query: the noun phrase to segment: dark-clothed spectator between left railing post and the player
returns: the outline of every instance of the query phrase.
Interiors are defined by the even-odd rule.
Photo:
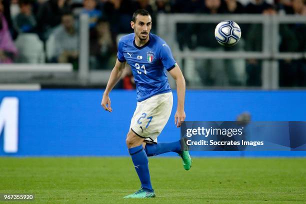
[[[90,67],[94,69],[107,68],[114,49],[109,23],[101,19],[96,25],[94,35],[90,38]]]

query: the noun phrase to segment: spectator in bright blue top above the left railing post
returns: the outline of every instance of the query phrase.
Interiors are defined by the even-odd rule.
[[[102,17],[102,12],[95,8],[96,0],[83,0],[83,10],[81,13],[87,13],[89,16],[89,27],[94,28],[96,22]]]

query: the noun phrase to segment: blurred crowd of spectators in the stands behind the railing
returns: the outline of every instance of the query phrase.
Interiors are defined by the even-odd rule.
[[[90,68],[111,68],[116,57],[116,37],[120,33],[132,32],[129,22],[132,13],[139,8],[152,14],[152,32],[155,32],[157,13],[306,15],[305,0],[0,0],[0,63],[69,62],[77,69],[78,17],[81,13],[87,13]],[[180,49],[185,46],[197,50],[214,50],[220,47],[213,35],[206,34],[207,30],[214,30],[215,23],[202,24],[196,28],[192,24],[188,26],[189,28],[185,24],[177,26],[176,36]],[[261,43],[253,39],[261,37],[258,34],[261,32],[260,26],[245,25],[244,30],[252,31],[244,35],[243,49],[261,50]],[[284,30],[282,39],[291,40],[290,43],[282,40],[280,51],[306,50],[304,25],[286,25],[280,29]],[[206,60],[200,63],[208,65],[213,62]],[[248,60],[246,70],[252,76],[247,79],[248,85],[260,83],[261,73],[257,68],[261,66],[260,63],[255,59]],[[292,67],[291,64],[289,59],[280,61],[280,68],[285,70],[288,66]],[[301,64],[303,62],[300,61],[293,64],[296,69],[293,75],[300,76]],[[217,66],[222,67],[222,64]],[[211,77],[214,73],[213,70],[210,72],[200,74],[206,85],[213,84]],[[281,74],[286,76],[287,73]]]

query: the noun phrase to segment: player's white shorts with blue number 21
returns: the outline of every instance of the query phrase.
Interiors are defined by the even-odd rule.
[[[130,129],[148,143],[157,143],[157,136],[167,123],[172,109],[172,92],[153,95],[141,102],[130,121]]]

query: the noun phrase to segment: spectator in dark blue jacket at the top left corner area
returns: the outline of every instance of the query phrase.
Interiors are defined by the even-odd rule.
[[[36,20],[32,14],[31,0],[19,0],[20,12],[14,18],[16,30],[20,32],[35,31]]]

